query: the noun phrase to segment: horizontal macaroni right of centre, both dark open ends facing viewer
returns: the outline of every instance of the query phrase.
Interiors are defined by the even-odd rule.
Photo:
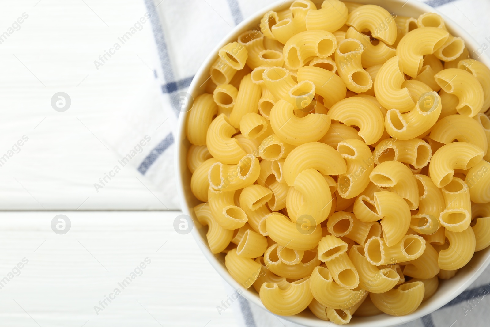
[[[429,164],[432,158],[432,150],[427,142],[421,139],[398,140],[389,138],[376,145],[373,156],[376,165],[394,160],[418,169]]]

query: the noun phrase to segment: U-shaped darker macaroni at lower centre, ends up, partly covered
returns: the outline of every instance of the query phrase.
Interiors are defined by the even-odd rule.
[[[287,248],[282,248],[281,253]],[[271,245],[264,253],[266,267],[277,276],[285,278],[304,278],[311,275],[313,269],[321,263],[317,253],[305,251],[297,264],[289,265],[279,258],[279,245]]]

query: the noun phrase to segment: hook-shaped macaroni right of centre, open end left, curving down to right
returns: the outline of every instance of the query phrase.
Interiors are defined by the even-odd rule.
[[[417,181],[410,169],[401,162],[382,162],[372,170],[369,178],[377,186],[391,187],[394,193],[407,201],[411,210],[418,208]]]

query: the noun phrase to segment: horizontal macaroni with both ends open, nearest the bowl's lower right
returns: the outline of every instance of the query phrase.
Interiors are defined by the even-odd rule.
[[[372,237],[366,242],[366,259],[375,266],[407,262],[417,259],[425,250],[425,240],[418,235],[408,234],[389,247],[386,239]]]

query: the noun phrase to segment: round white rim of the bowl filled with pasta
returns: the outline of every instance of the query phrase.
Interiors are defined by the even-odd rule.
[[[204,79],[202,76],[207,76],[209,75],[209,67],[213,64],[214,60],[216,60],[218,50],[220,50],[224,45],[226,45],[229,42],[236,41],[237,36],[252,27],[251,25],[255,24],[257,27],[258,26],[258,21],[270,10],[274,9],[287,9],[289,8],[289,5],[294,0],[277,0],[273,3],[271,3],[268,6],[265,6],[264,8],[256,11],[254,14],[250,15],[248,18],[246,18],[243,22],[241,22],[239,25],[236,25],[235,27],[232,28],[230,32],[224,36],[220,43],[210,52],[210,54],[206,57],[206,59],[203,61],[202,65],[199,67],[199,69],[196,72],[195,77],[193,78],[189,89],[188,93],[192,95],[192,97],[195,99],[196,96],[205,93],[202,92],[202,90],[199,90],[202,85],[199,85],[202,80]],[[344,0],[343,0],[344,1]],[[313,0],[315,3],[321,3],[322,0]],[[391,4],[397,4],[401,5],[403,7],[404,5],[409,5],[410,7],[413,7],[414,10],[417,11],[422,11],[422,12],[435,12],[444,19],[444,23],[446,24],[446,27],[450,32],[453,32],[456,36],[459,36],[463,38],[465,41],[466,47],[469,50],[476,50],[479,49],[479,44],[478,42],[471,36],[469,33],[466,32],[461,26],[457,25],[454,21],[452,21],[450,18],[442,14],[439,10],[437,10],[434,7],[429,6],[426,3],[423,3],[419,0],[353,0],[352,2],[358,2],[362,4],[369,4],[373,2],[378,2],[378,3],[391,3]],[[380,4],[383,6],[382,4]],[[487,65],[487,67],[490,67],[490,59],[486,55],[486,53],[482,53],[479,55],[478,60],[483,62],[484,64]],[[209,79],[209,77],[208,77]],[[206,79],[207,80],[207,79]],[[185,173],[185,170],[188,170],[187,168],[187,163],[186,160],[182,160],[182,148],[183,148],[183,141],[186,139],[185,135],[185,122],[187,120],[189,111],[187,112],[181,112],[178,118],[178,126],[177,126],[177,135],[175,138],[175,152],[174,152],[174,166],[175,166],[175,176],[176,176],[176,181],[177,181],[177,193],[180,199],[181,203],[181,210],[184,214],[190,216],[194,220],[194,226],[199,226],[194,214],[191,212],[191,207],[187,201],[187,197],[185,194],[185,185],[184,185],[184,179],[183,179],[183,174]],[[272,315],[272,312],[267,310],[265,306],[262,304],[260,301],[259,295],[256,292],[250,292],[248,290],[244,290],[243,287],[235,280],[231,275],[228,273],[226,268],[224,267],[224,262],[218,256],[214,255],[206,245],[206,240],[205,238],[203,239],[202,235],[199,233],[198,228],[193,228],[191,231],[194,240],[196,241],[197,246],[201,250],[201,252],[204,254],[206,259],[209,261],[211,266],[220,274],[220,276],[234,289],[241,289],[243,291],[242,296],[247,299],[248,301],[256,304],[257,306],[261,307],[263,310],[266,310]],[[486,251],[486,252],[484,252]],[[484,254],[483,254],[483,253]],[[473,267],[469,265],[469,263],[464,267],[470,267],[473,272],[469,272],[469,277],[464,280],[464,282],[459,282],[456,285],[452,286],[450,288],[450,294],[445,296],[440,296],[439,298],[431,298],[427,302],[424,302],[425,305],[421,305],[415,312],[405,315],[405,316],[390,316],[387,314],[379,314],[375,316],[370,316],[370,317],[357,317],[354,322],[351,322],[348,324],[348,326],[351,327],[393,327],[397,326],[399,324],[405,324],[411,321],[414,321],[418,318],[421,318],[427,314],[430,314],[437,309],[441,308],[443,305],[447,304],[448,302],[452,301],[454,298],[456,298],[458,295],[460,295],[468,286],[470,286],[473,281],[476,280],[477,277],[479,277],[484,270],[489,266],[490,264],[490,248],[486,250],[482,250],[478,252],[483,255],[479,255],[481,257],[480,259],[483,260],[483,262],[479,263],[479,268],[475,270]],[[471,261],[473,261],[473,258]],[[480,260],[480,261],[481,261]],[[462,268],[462,269],[464,269]],[[466,270],[469,270],[467,268]],[[431,301],[432,300],[432,301]],[[294,315],[294,316],[279,316],[276,315],[284,320],[290,321],[295,324],[300,324],[304,326],[309,326],[309,327],[324,327],[325,321],[320,320],[317,317],[305,317],[300,315]],[[354,319],[355,317],[353,317]],[[381,319],[380,319],[381,318]],[[332,326],[340,326],[332,323]]]

